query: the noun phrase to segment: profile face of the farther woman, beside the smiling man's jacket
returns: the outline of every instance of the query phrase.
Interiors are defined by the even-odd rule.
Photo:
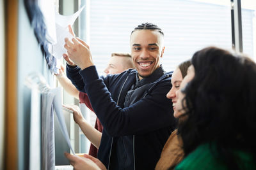
[[[175,71],[173,71],[172,74],[172,89],[168,92],[168,94],[166,94],[166,97],[168,99],[172,100],[172,107],[173,107],[173,116],[176,118],[176,115],[179,113],[177,113],[177,109],[176,109],[176,103],[177,103],[177,96],[176,96],[176,92],[177,90],[180,89],[180,83],[183,80],[182,78],[182,74],[181,71],[179,69],[179,67],[177,69],[175,69]]]

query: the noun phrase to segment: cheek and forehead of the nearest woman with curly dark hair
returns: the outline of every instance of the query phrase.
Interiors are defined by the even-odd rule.
[[[180,89],[184,89],[184,87],[186,87],[187,83],[189,81],[191,81],[195,76],[195,68],[193,65],[188,67],[188,72],[187,75],[184,77],[184,79],[182,80],[181,84],[180,84]],[[176,103],[176,110],[177,110],[177,115],[175,115],[175,117],[180,117],[180,115],[185,113],[185,110],[183,108],[183,106],[186,107],[186,103],[183,100],[185,97],[185,94],[182,93],[181,91],[177,90],[176,91],[176,96],[177,96],[177,103]],[[183,104],[182,104],[183,102]]]

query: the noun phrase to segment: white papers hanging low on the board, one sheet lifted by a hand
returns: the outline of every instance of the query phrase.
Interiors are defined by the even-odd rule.
[[[54,146],[54,111],[58,122],[60,123],[61,132],[72,151],[67,126],[63,118],[61,104],[61,88],[50,89],[47,94],[42,94],[42,169],[55,169],[55,146]],[[64,151],[63,151],[64,154]]]

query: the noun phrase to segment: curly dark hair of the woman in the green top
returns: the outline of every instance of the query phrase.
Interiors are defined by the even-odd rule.
[[[213,46],[196,52],[191,62],[195,77],[182,89],[187,119],[179,125],[185,155],[214,143],[216,157],[239,169],[243,162],[234,150],[256,155],[256,64]]]

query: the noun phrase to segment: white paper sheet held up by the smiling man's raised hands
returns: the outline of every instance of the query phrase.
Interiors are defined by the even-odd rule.
[[[61,59],[63,53],[66,53],[67,50],[64,48],[65,41],[64,39],[67,37],[68,39],[72,39],[73,36],[68,32],[68,25],[73,25],[76,21],[76,18],[80,15],[81,11],[83,11],[84,6],[78,10],[73,15],[60,15],[56,13],[55,20],[56,20],[56,36],[57,36],[57,43],[52,46],[52,55],[57,59]]]

